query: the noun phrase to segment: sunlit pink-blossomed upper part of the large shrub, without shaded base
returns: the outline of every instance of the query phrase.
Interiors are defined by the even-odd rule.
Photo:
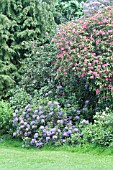
[[[63,34],[65,32],[65,34]],[[96,94],[113,96],[113,8],[108,7],[78,23],[69,22],[55,36],[59,54],[57,76],[94,80]]]

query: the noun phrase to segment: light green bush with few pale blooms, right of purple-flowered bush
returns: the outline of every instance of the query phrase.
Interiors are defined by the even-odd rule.
[[[113,112],[109,108],[97,112],[94,124],[89,124],[84,130],[84,143],[90,142],[103,146],[113,146]]]

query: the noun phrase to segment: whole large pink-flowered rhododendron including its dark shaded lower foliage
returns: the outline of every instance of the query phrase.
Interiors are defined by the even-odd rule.
[[[111,107],[113,8],[104,8],[87,20],[61,26],[54,39],[59,49],[53,63],[55,86],[63,86],[64,96],[75,93],[81,107],[89,100],[92,114],[103,106]]]

